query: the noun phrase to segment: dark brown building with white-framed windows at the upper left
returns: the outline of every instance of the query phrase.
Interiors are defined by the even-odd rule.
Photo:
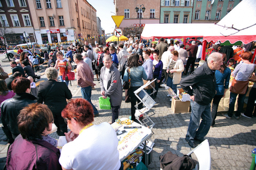
[[[23,37],[23,32],[27,32],[28,36],[31,38],[31,40],[27,39],[27,41],[35,41],[31,16],[32,15],[30,13],[30,7],[27,0],[0,1],[1,25],[5,25],[6,30],[13,32],[14,35],[6,38],[6,44],[26,43],[26,39]]]

